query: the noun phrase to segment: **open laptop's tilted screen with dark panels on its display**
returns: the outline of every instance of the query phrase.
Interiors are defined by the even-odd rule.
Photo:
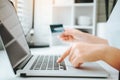
[[[30,51],[15,9],[8,0],[0,0],[0,21],[0,36],[15,68]]]

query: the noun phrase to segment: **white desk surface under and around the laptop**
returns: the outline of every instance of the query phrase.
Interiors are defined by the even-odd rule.
[[[32,54],[61,54],[63,53],[67,47],[56,46],[52,48],[37,48],[31,49]],[[45,77],[27,77],[22,78],[14,75],[12,68],[10,66],[9,60],[5,52],[0,51],[0,80],[118,80],[118,72],[108,66],[103,62],[98,62],[101,66],[111,74],[108,79],[92,79],[92,78],[45,78]]]

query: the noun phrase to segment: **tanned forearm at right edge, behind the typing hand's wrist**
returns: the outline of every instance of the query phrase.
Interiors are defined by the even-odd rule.
[[[120,49],[107,47],[103,60],[112,67],[120,70]]]

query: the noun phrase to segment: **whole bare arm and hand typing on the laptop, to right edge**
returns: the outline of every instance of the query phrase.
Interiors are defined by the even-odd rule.
[[[120,49],[104,44],[74,43],[58,60],[62,62],[67,56],[74,67],[80,67],[85,62],[103,60],[120,70]]]

